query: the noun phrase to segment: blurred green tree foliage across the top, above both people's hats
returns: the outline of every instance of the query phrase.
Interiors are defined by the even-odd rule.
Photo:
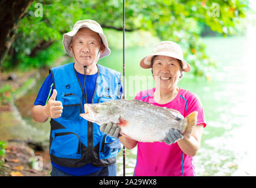
[[[38,2],[43,7],[42,17],[35,16],[35,4]],[[120,0],[35,1],[19,23],[17,38],[12,46],[15,53],[6,58],[2,66],[6,69],[13,65],[23,68],[49,65],[56,53],[64,52],[63,47],[54,48],[51,45],[51,52],[38,53],[36,59],[29,56],[31,51],[40,42],[60,42],[63,33],[70,31],[74,23],[81,19],[93,19],[103,28],[121,32],[122,6],[123,1]],[[236,25],[245,17],[247,10],[248,1],[238,0],[129,0],[126,1],[126,29],[143,30],[160,40],[178,42],[185,59],[192,65],[193,73],[201,76],[209,67],[215,66],[215,62],[205,54],[205,45],[201,40],[202,25],[223,36],[234,35]],[[114,36],[110,37],[113,38],[110,44],[122,44],[122,38],[114,39]],[[126,38],[126,41],[130,39],[133,38]]]

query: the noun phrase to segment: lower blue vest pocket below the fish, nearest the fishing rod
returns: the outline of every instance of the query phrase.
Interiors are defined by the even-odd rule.
[[[120,149],[121,144],[119,139],[104,135],[100,143],[99,159],[109,159],[111,157],[116,157]]]

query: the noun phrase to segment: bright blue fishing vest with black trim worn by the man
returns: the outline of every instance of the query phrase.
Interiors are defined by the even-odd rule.
[[[121,74],[98,66],[93,103],[119,99]],[[100,131],[96,123],[79,116],[84,113],[86,95],[79,82],[74,63],[50,69],[57,90],[56,100],[63,104],[61,117],[51,119],[50,156],[52,162],[65,167],[109,166],[116,163],[120,141]]]

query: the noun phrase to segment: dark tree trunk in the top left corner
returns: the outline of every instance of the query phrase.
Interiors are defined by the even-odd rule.
[[[34,0],[2,0],[0,2],[0,65],[14,42],[19,20]]]

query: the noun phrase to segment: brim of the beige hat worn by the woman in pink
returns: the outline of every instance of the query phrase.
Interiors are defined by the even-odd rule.
[[[169,56],[171,58],[179,59],[182,62],[182,68],[184,72],[189,72],[191,70],[191,66],[189,65],[188,62],[186,62],[184,59],[178,57],[176,54],[171,53],[171,52],[157,52],[157,53],[152,53],[151,55],[146,56],[140,61],[140,66],[143,69],[149,69],[151,68],[151,60],[153,56],[155,55],[163,55],[163,56]]]

